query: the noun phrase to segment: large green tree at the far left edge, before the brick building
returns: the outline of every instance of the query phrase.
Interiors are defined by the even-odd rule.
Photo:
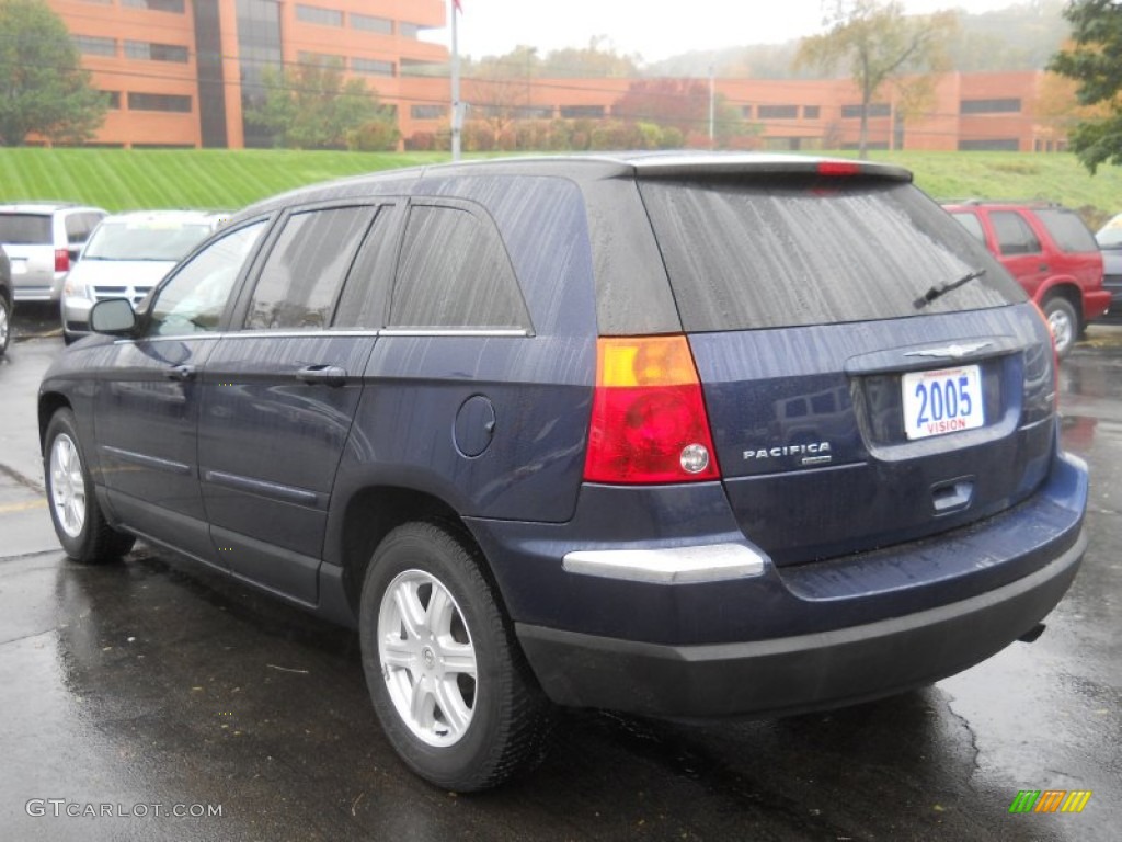
[[[0,143],[80,144],[105,119],[66,25],[44,0],[0,0]]]

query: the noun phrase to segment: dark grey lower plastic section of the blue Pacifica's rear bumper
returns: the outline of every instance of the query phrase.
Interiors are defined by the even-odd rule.
[[[1028,632],[1075,577],[1086,536],[1023,579],[865,625],[747,643],[675,647],[517,624],[546,695],[659,716],[772,715],[835,707],[959,672]]]

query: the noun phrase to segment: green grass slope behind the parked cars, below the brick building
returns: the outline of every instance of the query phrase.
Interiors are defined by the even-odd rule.
[[[1092,176],[1072,155],[877,152],[936,199],[1037,199],[1088,225],[1122,212],[1122,168]],[[56,199],[123,211],[234,210],[274,193],[378,170],[448,161],[447,153],[0,148],[0,202]]]

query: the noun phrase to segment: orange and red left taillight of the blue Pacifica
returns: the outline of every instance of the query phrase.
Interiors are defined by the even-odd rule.
[[[585,479],[719,479],[693,356],[684,336],[600,339]]]

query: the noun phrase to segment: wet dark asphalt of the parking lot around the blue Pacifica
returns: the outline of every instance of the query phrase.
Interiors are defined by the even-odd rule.
[[[2,840],[1120,838],[1122,324],[1063,365],[1091,544],[1036,643],[828,714],[570,713],[536,772],[454,796],[396,760],[351,632],[144,546],[64,559],[35,420],[62,340],[18,318],[37,336],[0,360]],[[1022,789],[1093,795],[1079,814],[1011,815]]]

